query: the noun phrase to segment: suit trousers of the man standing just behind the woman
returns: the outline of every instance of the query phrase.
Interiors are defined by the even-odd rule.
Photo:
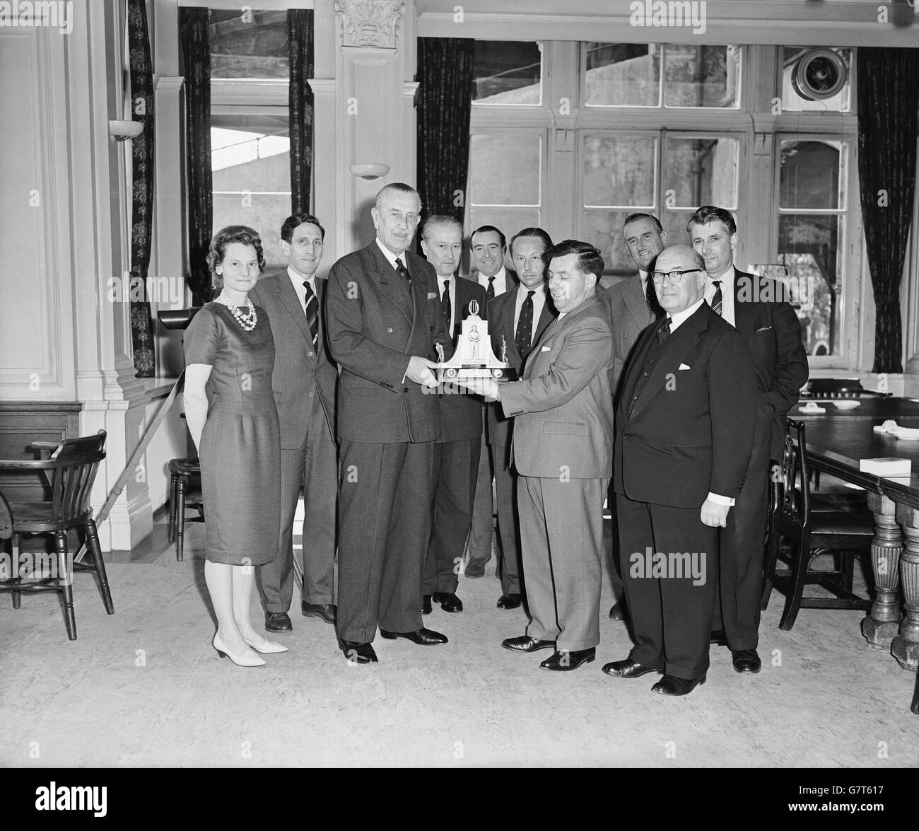
[[[281,527],[278,557],[259,566],[267,611],[287,611],[293,598],[293,522],[303,489],[303,586],[307,603],[335,602],[335,442],[318,396],[312,398],[309,435],[300,448],[281,448]]]

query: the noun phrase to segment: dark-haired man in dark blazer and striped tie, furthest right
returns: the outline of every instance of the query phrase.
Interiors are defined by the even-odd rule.
[[[727,643],[734,669],[759,672],[759,604],[766,552],[769,460],[780,458],[786,414],[808,379],[800,323],[777,281],[733,266],[737,226],[730,211],[703,206],[687,225],[705,259],[706,301],[743,336],[753,356],[759,402],[753,452],[732,522],[721,531],[720,603],[713,643]]]

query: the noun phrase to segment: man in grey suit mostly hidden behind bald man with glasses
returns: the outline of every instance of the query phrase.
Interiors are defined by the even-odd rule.
[[[613,394],[618,392],[619,379],[626,359],[641,331],[661,315],[661,306],[654,293],[650,270],[657,255],[667,244],[667,234],[656,216],[650,213],[632,213],[622,224],[622,236],[631,258],[638,266],[638,274],[620,280],[601,292],[609,304],[609,316],[613,324],[613,369],[610,385]],[[616,497],[610,494],[610,513],[615,515]],[[616,534],[613,541],[616,542]],[[610,572],[613,594],[619,598],[609,609],[609,617],[622,620],[625,617],[625,600],[622,598],[622,577],[618,574],[618,557],[614,557],[615,568]]]

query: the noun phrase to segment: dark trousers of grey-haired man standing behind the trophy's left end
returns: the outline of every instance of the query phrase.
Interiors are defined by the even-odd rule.
[[[482,438],[434,446],[431,539],[425,558],[424,594],[455,593],[472,521]]]

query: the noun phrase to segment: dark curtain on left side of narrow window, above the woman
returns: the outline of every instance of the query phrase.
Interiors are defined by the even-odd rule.
[[[206,8],[182,6],[179,38],[185,63],[186,184],[188,191],[188,287],[192,302],[209,302],[208,247],[213,225],[210,173],[210,42]]]

